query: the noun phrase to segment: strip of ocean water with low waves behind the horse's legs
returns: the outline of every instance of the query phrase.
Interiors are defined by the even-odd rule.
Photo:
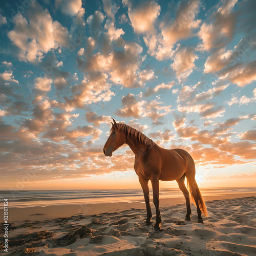
[[[255,193],[255,187],[200,188],[203,196]],[[153,196],[152,189],[150,190]],[[183,197],[179,188],[160,188],[160,198]],[[143,200],[142,189],[104,190],[0,190],[3,202],[8,199],[9,207],[33,207],[76,203],[128,202]],[[0,205],[0,209],[3,208]]]

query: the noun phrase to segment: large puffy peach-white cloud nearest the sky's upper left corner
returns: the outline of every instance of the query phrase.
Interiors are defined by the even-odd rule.
[[[37,2],[33,2],[27,16],[16,14],[14,29],[8,32],[8,37],[19,49],[19,60],[41,61],[44,53],[68,45],[70,37],[67,28],[57,21],[53,22],[47,9],[43,10]]]

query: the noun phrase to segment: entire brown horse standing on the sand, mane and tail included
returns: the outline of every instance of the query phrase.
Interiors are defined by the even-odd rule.
[[[156,224],[154,227],[156,230],[160,230],[161,227],[159,180],[176,180],[178,182],[179,188],[186,199],[187,214],[185,220],[190,221],[191,209],[189,192],[184,184],[185,177],[192,194],[191,198],[197,206],[198,222],[203,223],[202,213],[206,217],[208,214],[195,179],[196,169],[193,158],[180,148],[165,150],[133,127],[123,123],[116,123],[114,119],[113,121],[111,134],[104,145],[103,153],[105,156],[111,157],[112,153],[125,143],[130,146],[135,154],[134,169],[139,176],[146,203],[146,225],[151,224],[152,218],[148,180],[151,180],[153,188],[153,202],[156,207]]]

